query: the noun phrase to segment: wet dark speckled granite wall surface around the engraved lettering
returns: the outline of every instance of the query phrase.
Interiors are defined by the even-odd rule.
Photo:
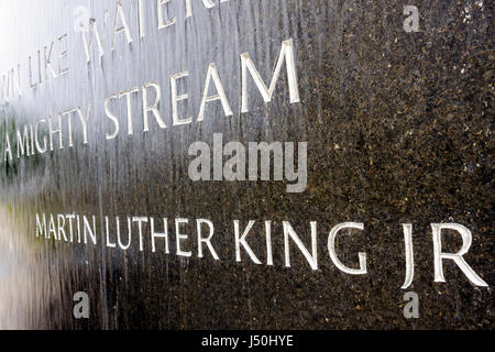
[[[175,25],[157,30],[156,9],[146,6],[146,33],[139,37],[138,1],[122,1],[132,30],[128,45],[119,34],[110,52],[116,1],[84,1],[101,23],[109,9],[106,54],[86,64],[80,35],[73,30],[76,2],[20,1],[2,35],[15,36],[2,54],[0,73],[68,33],[70,72],[0,110],[1,135],[42,116],[92,103],[84,145],[0,164],[2,223],[0,322],[10,327],[75,329],[491,329],[493,288],[493,94],[494,54],[487,1],[411,1],[420,31],[406,33],[403,1],[230,0],[205,9],[193,1],[194,15],[174,1],[167,14]],[[154,2],[154,1],[153,1]],[[148,2],[146,2],[148,4]],[[31,8],[25,11],[26,7]],[[0,18],[4,18],[1,13]],[[22,25],[21,25],[22,23]],[[293,38],[300,102],[289,103],[285,67],[273,101],[265,103],[250,86],[250,112],[241,113],[241,61],[249,52],[268,81],[280,44]],[[52,62],[57,64],[57,54]],[[96,56],[95,56],[96,57]],[[11,59],[10,59],[11,58]],[[233,110],[209,105],[196,122],[208,64],[215,62]],[[0,63],[2,63],[0,61]],[[195,122],[172,127],[169,76],[189,72],[189,100],[180,106]],[[43,77],[44,79],[45,77]],[[147,81],[162,86],[160,109],[167,124],[151,118],[142,132],[133,97],[133,135],[106,133],[106,97]],[[185,87],[180,87],[180,90]],[[151,98],[150,98],[151,99]],[[188,177],[188,146],[224,142],[308,142],[308,188],[288,194],[278,182],[197,182]],[[4,141],[0,151],[4,152]],[[67,141],[66,141],[67,142]],[[185,248],[191,257],[152,253],[145,239],[128,251],[35,238],[35,213],[186,218]],[[215,224],[212,244],[197,257],[196,219]],[[233,220],[244,229],[256,220],[249,243],[256,265],[242,252],[235,262]],[[266,265],[263,221],[272,220],[274,265]],[[292,244],[292,267],[284,266],[282,221],[289,221],[310,245],[310,221],[318,222],[318,271]],[[364,231],[338,239],[340,260],[358,265],[367,254],[367,275],[349,275],[331,262],[329,231],[338,223],[364,223]],[[420,318],[403,315],[405,278],[402,223],[413,223],[416,292]],[[431,223],[455,222],[472,231],[464,256],[490,285],[475,287],[444,261],[447,283],[433,283]],[[112,228],[114,231],[114,226]],[[125,231],[125,228],[124,228]],[[135,228],[134,228],[134,231]],[[443,238],[444,251],[462,244],[455,232]],[[73,317],[73,295],[90,296],[90,319]]]

